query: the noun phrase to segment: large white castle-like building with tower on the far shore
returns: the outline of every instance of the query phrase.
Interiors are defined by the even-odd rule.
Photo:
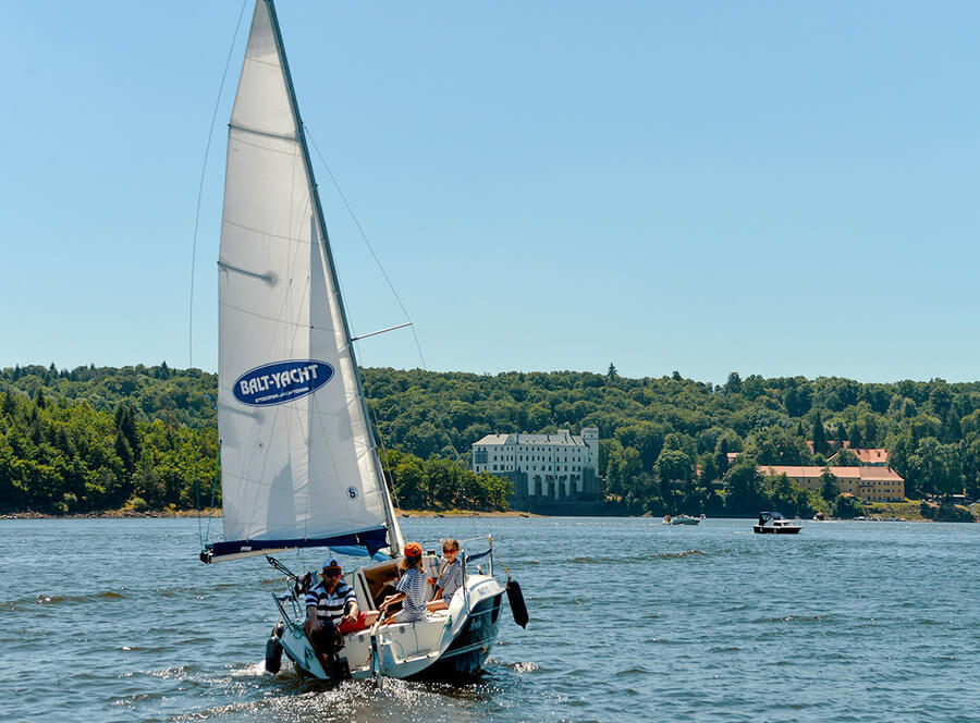
[[[515,480],[518,498],[560,500],[588,494],[598,463],[598,427],[583,428],[581,437],[567,429],[555,434],[487,434],[473,444],[473,470]]]

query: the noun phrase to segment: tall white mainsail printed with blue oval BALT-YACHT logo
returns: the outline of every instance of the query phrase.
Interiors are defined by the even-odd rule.
[[[229,124],[219,266],[224,542],[401,549],[274,9],[256,2]]]

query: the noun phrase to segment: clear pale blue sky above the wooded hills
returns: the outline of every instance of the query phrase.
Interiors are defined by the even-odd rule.
[[[250,1],[4,5],[0,366],[217,368]],[[425,366],[980,379],[980,4],[289,2]],[[354,333],[404,321],[315,152]],[[366,366],[422,364],[413,334]]]

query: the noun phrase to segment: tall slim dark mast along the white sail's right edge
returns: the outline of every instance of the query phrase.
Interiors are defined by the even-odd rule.
[[[333,264],[333,253],[330,249],[330,238],[327,234],[327,220],[323,216],[323,207],[320,203],[320,194],[317,191],[317,180],[314,175],[313,162],[310,161],[309,156],[309,147],[306,144],[306,131],[303,126],[303,119],[299,115],[299,103],[296,100],[296,90],[293,87],[293,75],[290,72],[290,63],[285,54],[285,45],[282,41],[282,30],[279,27],[279,16],[275,14],[275,4],[273,0],[260,1],[264,1],[266,3],[266,8],[269,11],[269,19],[272,24],[272,32],[275,35],[275,50],[279,53],[279,58],[282,62],[282,72],[285,77],[286,91],[290,97],[290,107],[292,108],[293,118],[296,122],[296,136],[299,140],[299,147],[303,149],[303,159],[306,164],[306,177],[309,183],[310,197],[313,198],[314,207],[316,209],[317,224],[319,226],[320,236],[323,240],[322,244],[323,250],[327,255],[327,266],[330,268],[330,275],[333,280],[333,286],[336,290],[341,318],[344,322],[344,336],[347,341],[348,354],[351,355],[351,362],[353,363],[354,367],[354,376],[357,380],[358,397],[360,400],[360,407],[364,413],[364,419],[368,430],[368,439],[371,445],[371,462],[375,467],[375,474],[380,480],[381,494],[384,498],[384,515],[388,518],[388,528],[391,531],[388,542],[391,549],[392,556],[394,556],[401,552],[402,532],[394,517],[394,506],[392,505],[391,495],[388,492],[388,482],[384,479],[384,474],[381,468],[381,458],[378,455],[378,446],[375,443],[375,429],[373,425],[371,424],[371,416],[368,410],[367,400],[364,395],[364,382],[360,378],[360,369],[357,366],[357,356],[354,353],[354,343],[353,341],[351,341],[351,327],[347,321],[347,310],[344,306],[340,282],[336,277],[336,267]]]

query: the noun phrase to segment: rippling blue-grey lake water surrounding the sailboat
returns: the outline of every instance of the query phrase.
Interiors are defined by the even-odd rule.
[[[220,520],[211,535],[220,530]],[[502,615],[466,685],[262,672],[282,579],[203,565],[196,519],[0,520],[0,720],[976,721],[980,525],[405,519],[492,532]],[[321,553],[281,555],[316,567]]]

